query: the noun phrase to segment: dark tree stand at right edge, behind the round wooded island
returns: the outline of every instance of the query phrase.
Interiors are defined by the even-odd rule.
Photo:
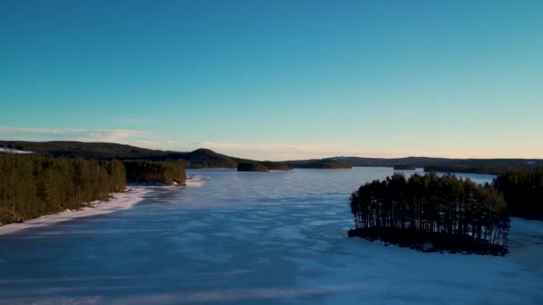
[[[543,167],[501,174],[493,184],[504,194],[511,216],[543,220]]]

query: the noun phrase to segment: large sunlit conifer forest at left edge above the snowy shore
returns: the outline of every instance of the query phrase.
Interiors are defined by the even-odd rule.
[[[0,153],[0,223],[37,218],[125,188],[120,161],[85,161]]]

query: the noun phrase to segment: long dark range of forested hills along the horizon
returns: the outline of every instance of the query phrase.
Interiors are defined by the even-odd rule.
[[[46,156],[82,157],[88,160],[183,160],[188,169],[236,169],[239,163],[265,163],[268,169],[313,168],[345,169],[350,167],[394,167],[408,166],[434,171],[475,172],[497,174],[505,171],[518,171],[543,166],[543,160],[533,159],[447,159],[429,157],[406,158],[360,158],[334,157],[314,160],[283,162],[251,161],[230,157],[209,149],[194,152],[158,151],[125,144],[84,143],[72,141],[25,142],[0,141],[0,148],[13,148],[36,152]]]

